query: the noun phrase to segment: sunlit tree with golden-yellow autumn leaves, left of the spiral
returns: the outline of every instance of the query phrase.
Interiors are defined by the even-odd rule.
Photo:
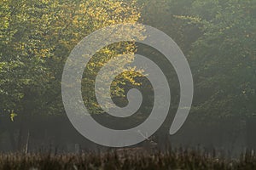
[[[3,113],[14,111],[18,115],[17,149],[24,150],[32,115],[64,112],[61,72],[76,43],[103,26],[134,23],[139,13],[133,0],[127,3],[118,0],[30,0],[19,3],[4,0],[0,8],[0,109]],[[126,42],[119,49],[132,53],[133,46]],[[102,49],[101,53],[106,56],[103,60],[107,61],[115,51],[116,48]],[[101,67],[100,61],[97,58],[93,61],[95,67]],[[89,100],[88,104],[91,102]]]

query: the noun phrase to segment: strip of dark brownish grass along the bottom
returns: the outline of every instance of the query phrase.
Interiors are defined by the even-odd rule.
[[[249,154],[250,153],[250,154]],[[219,159],[214,154],[177,150],[166,153],[137,150],[108,151],[107,153],[82,154],[1,154],[0,169],[256,169],[256,156],[252,152],[237,160]]]

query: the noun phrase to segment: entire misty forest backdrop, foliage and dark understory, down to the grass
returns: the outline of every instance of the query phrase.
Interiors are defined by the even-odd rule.
[[[180,99],[173,65],[153,48],[116,42],[98,51],[83,74],[84,105],[97,122],[135,126],[152,110],[152,87],[134,71],[120,74],[111,89],[114,103],[121,106],[127,104],[127,90],[142,91],[143,105],[135,116],[125,123],[111,120],[96,100],[94,83],[102,65],[118,54],[130,54],[119,63],[125,65],[138,53],[160,66],[172,93],[166,122],[152,137],[160,148],[166,144],[217,148],[236,156],[255,148],[255,0],[2,0],[0,17],[0,150],[102,147],[85,139],[68,121],[61,98],[62,71],[82,38],[124,23],[143,23],[172,37],[190,65],[193,104],[183,127],[170,136]],[[143,34],[143,29],[137,31]]]

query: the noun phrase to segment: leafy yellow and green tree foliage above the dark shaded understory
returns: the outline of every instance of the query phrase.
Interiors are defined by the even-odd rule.
[[[68,55],[91,32],[121,23],[154,26],[183,50],[194,78],[192,121],[214,124],[236,117],[242,122],[256,114],[255,0],[2,0],[0,18],[0,119],[24,125],[32,116],[65,116],[61,75]],[[96,71],[118,54],[130,54],[123,62],[132,62],[140,47],[118,42],[90,60],[82,93],[91,113],[102,113],[94,93]],[[160,54],[144,53],[157,60],[168,81],[177,80]],[[139,88],[137,77],[120,75],[113,96],[125,99],[125,85]],[[170,86],[173,112],[179,85]],[[151,105],[152,96],[145,99]],[[21,137],[20,143],[26,139]]]

